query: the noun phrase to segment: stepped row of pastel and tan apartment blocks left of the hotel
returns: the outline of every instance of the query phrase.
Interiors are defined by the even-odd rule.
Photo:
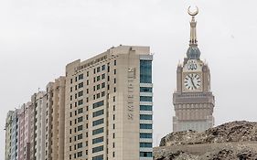
[[[49,82],[31,101],[7,113],[5,160],[63,160],[65,77]]]

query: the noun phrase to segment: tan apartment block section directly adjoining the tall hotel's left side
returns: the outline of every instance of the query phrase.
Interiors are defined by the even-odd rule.
[[[64,159],[65,77],[47,86],[46,160]]]

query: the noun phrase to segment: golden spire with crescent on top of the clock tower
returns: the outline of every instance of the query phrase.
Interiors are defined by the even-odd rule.
[[[198,39],[197,39],[197,22],[195,20],[195,16],[198,15],[198,6],[197,10],[195,12],[190,11],[190,7],[188,7],[187,12],[190,16],[192,16],[191,22],[190,22],[190,40],[189,40],[189,46],[198,45]]]

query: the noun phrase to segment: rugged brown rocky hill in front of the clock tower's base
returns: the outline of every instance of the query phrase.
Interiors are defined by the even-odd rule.
[[[203,133],[170,133],[154,149],[155,160],[257,159],[257,123],[224,123]]]

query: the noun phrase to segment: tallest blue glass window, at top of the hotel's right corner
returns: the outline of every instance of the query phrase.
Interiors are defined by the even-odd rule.
[[[152,60],[140,60],[140,82],[152,83]]]

